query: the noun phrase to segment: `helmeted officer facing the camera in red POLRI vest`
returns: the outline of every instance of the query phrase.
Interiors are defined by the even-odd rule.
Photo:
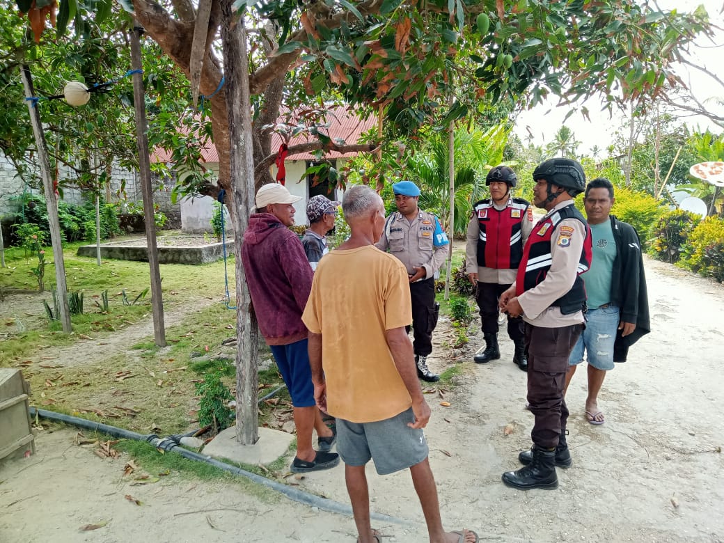
[[[533,227],[530,203],[510,195],[517,181],[518,177],[508,166],[501,164],[491,169],[485,179],[490,198],[473,206],[473,215],[468,223],[466,273],[477,287],[476,301],[485,339],[484,347],[473,358],[476,363],[500,358],[498,299],[515,282],[523,246]],[[523,319],[520,316],[513,318],[508,315],[508,336],[515,345],[513,362],[523,371],[528,371]]]

